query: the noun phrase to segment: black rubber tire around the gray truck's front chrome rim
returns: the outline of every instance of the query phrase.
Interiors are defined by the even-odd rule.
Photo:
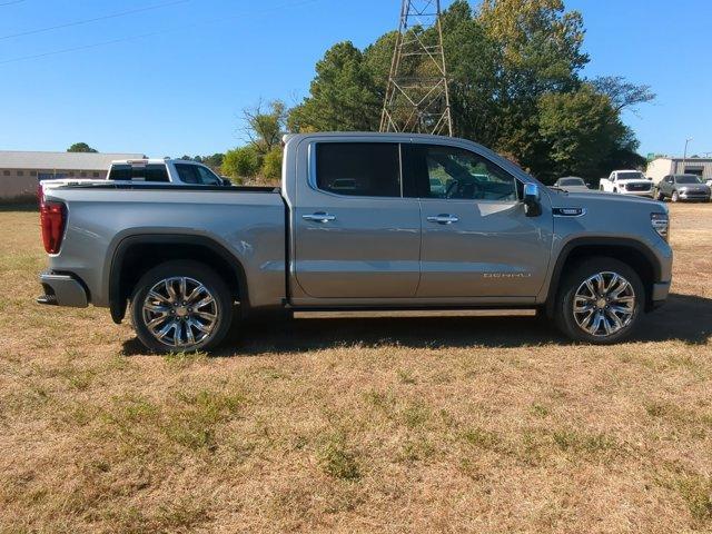
[[[591,334],[578,325],[574,314],[574,297],[576,296],[576,291],[583,287],[585,280],[600,273],[612,273],[619,275],[627,280],[634,293],[634,303],[631,306],[632,314],[630,316],[630,320],[626,319],[625,322],[622,322],[624,326],[610,335],[601,333],[601,330],[599,330],[597,335]],[[643,287],[643,283],[641,281],[640,276],[637,276],[637,274],[627,264],[615,258],[592,257],[583,259],[578,264],[574,265],[571,271],[563,278],[556,296],[556,301],[554,303],[554,318],[558,329],[571,339],[596,345],[609,345],[622,342],[633,334],[643,314],[644,304],[645,288]],[[604,315],[607,323],[611,323],[607,320],[611,315],[607,307],[604,310],[603,305],[599,305],[601,308],[596,308],[595,305],[592,306]],[[595,323],[595,319],[592,324],[593,323]],[[599,326],[599,328],[601,328],[601,326]]]

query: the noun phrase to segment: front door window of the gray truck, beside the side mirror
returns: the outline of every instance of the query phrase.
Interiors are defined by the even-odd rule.
[[[516,180],[468,150],[428,146],[425,150],[429,198],[516,200]]]

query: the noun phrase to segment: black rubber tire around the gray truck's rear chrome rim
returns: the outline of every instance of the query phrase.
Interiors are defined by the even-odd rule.
[[[172,306],[172,309],[169,312],[171,315],[166,315],[165,323],[160,324],[160,326],[162,327],[169,322],[174,322],[177,325],[179,322],[182,322],[180,326],[177,326],[177,328],[169,332],[172,332],[174,338],[178,335],[180,337],[186,337],[186,343],[174,344],[161,342],[147,326],[146,315],[151,314],[152,312],[144,309],[146,297],[151,288],[157,284],[170,278],[186,278],[189,280],[189,284],[197,281],[204,286],[206,295],[212,297],[212,299],[209,300],[209,304],[204,305],[209,307],[207,312],[204,308],[204,315],[215,316],[215,319],[209,322],[210,328],[208,333],[197,329],[198,327],[196,323],[192,322],[192,315],[179,317],[180,314],[186,314],[186,310],[192,312],[191,308],[187,308],[186,306],[176,307],[176,304],[168,305],[159,303],[158,300],[156,301],[161,307],[170,308]],[[179,281],[174,284],[179,284]],[[175,287],[176,286],[174,286],[174,289]],[[190,287],[195,288],[196,285],[192,284]],[[180,290],[178,293],[180,293]],[[134,323],[134,329],[146,348],[157,353],[210,350],[211,348],[215,348],[220,344],[220,342],[222,342],[230,329],[233,310],[233,297],[225,281],[222,281],[222,279],[212,269],[198,261],[171,260],[160,264],[148,270],[140,278],[134,289],[134,294],[131,295],[131,320]],[[199,313],[198,308],[196,308],[196,313]],[[164,312],[161,312],[161,314],[164,314]],[[198,317],[196,316],[195,320],[197,319]],[[200,322],[198,322],[198,324],[202,328],[206,326],[206,324]],[[188,340],[188,330],[190,330],[190,336],[194,338],[195,343],[190,343]],[[205,337],[199,338],[204,335]]]

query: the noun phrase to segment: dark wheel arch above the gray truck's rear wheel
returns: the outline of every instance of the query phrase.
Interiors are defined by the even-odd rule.
[[[109,309],[115,323],[126,316],[128,299],[148,269],[171,259],[191,259],[214,269],[228,285],[243,314],[249,309],[245,268],[222,245],[205,236],[142,234],[128,236],[116,246],[109,267]]]

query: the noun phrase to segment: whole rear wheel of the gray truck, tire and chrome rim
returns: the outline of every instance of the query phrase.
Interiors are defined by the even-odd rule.
[[[226,336],[233,320],[228,287],[197,261],[174,260],[147,271],[131,296],[131,319],[150,350],[208,350]]]

